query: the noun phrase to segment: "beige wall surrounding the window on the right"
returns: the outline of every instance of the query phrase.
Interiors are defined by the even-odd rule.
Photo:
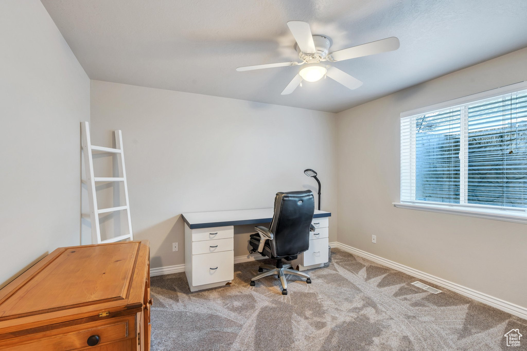
[[[522,49],[339,113],[338,241],[527,307],[526,225],[392,205],[399,114],[527,80],[525,62]]]

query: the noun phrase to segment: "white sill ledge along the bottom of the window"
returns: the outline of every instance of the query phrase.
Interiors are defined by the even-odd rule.
[[[430,211],[445,213],[459,216],[469,216],[477,218],[503,220],[505,222],[514,222],[527,224],[527,213],[512,213],[501,209],[473,209],[473,208],[460,208],[455,205],[426,205],[426,204],[413,204],[413,203],[396,203],[393,205],[398,208],[416,209],[421,211]]]

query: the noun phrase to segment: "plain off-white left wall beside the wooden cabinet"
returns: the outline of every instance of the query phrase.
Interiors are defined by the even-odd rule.
[[[80,243],[90,79],[37,0],[0,2],[0,287]]]

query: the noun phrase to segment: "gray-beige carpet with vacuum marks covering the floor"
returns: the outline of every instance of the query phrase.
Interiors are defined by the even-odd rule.
[[[527,320],[341,250],[331,258],[309,271],[313,284],[287,276],[287,296],[274,277],[249,286],[267,260],[203,292],[184,273],[152,277],[152,350],[527,350]],[[513,328],[521,347],[505,344]]]

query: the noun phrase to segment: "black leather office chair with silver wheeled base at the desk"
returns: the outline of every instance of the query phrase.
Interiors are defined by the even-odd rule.
[[[276,259],[276,268],[271,265],[261,265],[260,274],[251,278],[251,286],[255,281],[270,275],[278,275],[282,284],[282,295],[287,295],[285,274],[293,274],[311,278],[306,273],[298,272],[290,264],[283,264],[282,259],[294,260],[298,254],[309,248],[309,232],[315,227],[311,224],[315,212],[315,199],[311,190],[301,192],[277,193],[275,197],[275,214],[271,226],[257,226],[258,233],[251,234],[249,244],[251,253],[259,252],[262,256]],[[264,269],[269,269],[264,272]]]

